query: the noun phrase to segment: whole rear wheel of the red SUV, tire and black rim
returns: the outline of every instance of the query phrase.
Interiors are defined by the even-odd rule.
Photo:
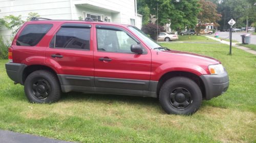
[[[46,70],[34,71],[28,75],[24,84],[25,94],[32,103],[53,103],[60,99],[58,78]]]

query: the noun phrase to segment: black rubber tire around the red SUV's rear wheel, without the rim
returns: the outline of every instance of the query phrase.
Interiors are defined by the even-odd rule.
[[[32,93],[32,85],[37,79],[44,79],[50,85],[50,93],[46,99],[38,99]],[[35,71],[31,73],[24,84],[24,91],[30,102],[33,103],[52,103],[59,99],[59,85],[56,86],[56,78],[54,75],[48,71]]]

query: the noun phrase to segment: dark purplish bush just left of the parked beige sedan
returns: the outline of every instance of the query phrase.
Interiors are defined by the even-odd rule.
[[[158,29],[158,33],[159,33],[159,32],[164,32],[163,26],[158,25],[158,27],[157,27],[157,24],[153,24],[153,23],[148,23],[148,24],[144,25],[144,26],[141,28],[141,30],[142,30],[144,33],[150,35],[150,37],[151,37],[152,39],[155,39],[155,40],[157,39],[157,29]]]

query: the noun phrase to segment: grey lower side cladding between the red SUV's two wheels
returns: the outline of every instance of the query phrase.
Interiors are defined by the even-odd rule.
[[[79,91],[157,98],[157,81],[58,74],[62,92]]]

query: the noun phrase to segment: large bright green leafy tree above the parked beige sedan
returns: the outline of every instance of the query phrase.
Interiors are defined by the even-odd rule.
[[[200,12],[198,0],[147,0],[145,1],[150,14],[158,15],[158,23],[171,23],[174,30],[194,28],[197,24],[197,15]]]

